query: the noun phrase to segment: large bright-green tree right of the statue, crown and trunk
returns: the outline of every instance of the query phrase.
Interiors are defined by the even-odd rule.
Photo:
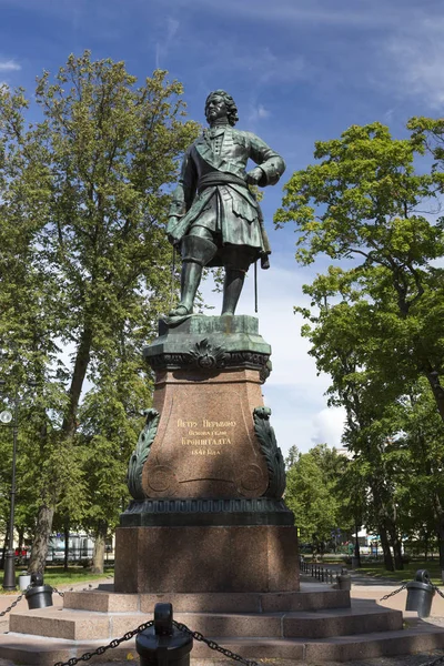
[[[347,413],[345,442],[369,465],[374,519],[402,566],[396,478],[408,461],[400,444],[402,404],[421,377],[428,382],[444,420],[442,222],[420,212],[438,201],[442,174],[417,174],[424,153],[418,135],[393,140],[387,128],[353,125],[341,139],[316,143],[320,163],[296,172],[286,185],[278,225],[294,220],[296,259],[334,261],[305,293],[317,367],[331,374],[330,400]],[[387,445],[390,442],[390,445]],[[365,467],[364,467],[365,470]],[[438,513],[441,509],[438,511]],[[437,516],[444,563],[442,518]]]

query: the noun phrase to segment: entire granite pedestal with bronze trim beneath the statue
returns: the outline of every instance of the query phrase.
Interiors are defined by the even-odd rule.
[[[299,589],[296,528],[262,397],[270,354],[255,317],[160,322],[144,350],[153,411],[130,464],[117,592]]]

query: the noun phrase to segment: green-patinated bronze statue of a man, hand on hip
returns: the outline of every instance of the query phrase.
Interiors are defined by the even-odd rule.
[[[223,90],[209,94],[205,117],[210,129],[188,149],[170,209],[168,236],[180,244],[183,262],[172,317],[192,314],[203,266],[225,269],[222,315],[234,314],[250,264],[261,259],[270,266],[262,212],[249,185],[274,185],[285,163],[255,134],[233,129],[238,109]],[[258,167],[246,172],[249,159]]]

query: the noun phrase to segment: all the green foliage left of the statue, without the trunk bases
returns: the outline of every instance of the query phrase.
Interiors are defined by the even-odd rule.
[[[152,389],[140,351],[170,300],[169,185],[198,132],[182,94],[164,71],[138,84],[88,51],[38,79],[39,122],[23,90],[0,88],[0,342],[16,349],[1,370],[7,395],[38,382],[20,414],[31,531],[42,507],[112,526],[127,501]]]

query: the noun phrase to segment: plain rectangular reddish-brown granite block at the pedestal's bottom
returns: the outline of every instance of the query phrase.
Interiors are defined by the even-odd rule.
[[[293,526],[120,527],[118,593],[297,592]]]

